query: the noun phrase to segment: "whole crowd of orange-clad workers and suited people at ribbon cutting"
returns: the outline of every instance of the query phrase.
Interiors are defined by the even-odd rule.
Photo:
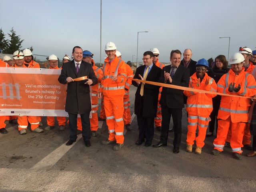
[[[197,62],[193,61],[190,49],[184,50],[182,60],[182,53],[179,50],[172,50],[171,65],[164,66],[158,60],[159,50],[153,48],[151,51],[144,52],[142,59],[144,65],[136,69],[135,75],[131,67],[122,60],[122,55],[113,42],[106,44],[105,52],[106,58],[102,69],[95,65],[92,59],[94,54],[90,51],[82,51],[82,48],[76,46],[72,52],[77,77],[83,65],[90,64],[94,72],[91,75],[92,80],[88,78],[84,83],[88,87],[91,86],[90,135],[97,136],[98,120],[106,120],[109,137],[102,141],[103,145],[114,143],[113,150],[120,150],[124,145],[124,128],[128,131],[132,130],[129,90],[133,84],[137,87],[134,113],[137,116],[140,131],[136,145],[141,145],[146,139],[144,145],[151,146],[155,124],[156,130],[161,131],[161,136],[160,142],[153,147],[167,146],[168,132],[174,131],[173,152],[179,153],[182,108],[185,104],[188,119],[187,152],[192,152],[196,142],[195,153],[201,154],[204,140],[214,135],[216,124],[213,155],[220,154],[224,146],[230,146],[235,159],[241,159],[243,147],[252,151],[247,154],[248,157],[256,156],[256,107],[252,99],[256,98],[256,50],[240,47],[239,51],[230,57],[231,68],[228,68],[228,61],[224,55],[217,56],[212,67],[209,67],[208,61],[204,58]],[[48,57],[48,63],[49,69],[59,69],[58,58],[54,54]],[[63,84],[70,85],[74,82],[68,74],[63,76],[65,73],[63,70],[67,70],[66,66],[71,64],[72,60],[65,55],[63,57],[65,67],[59,78]],[[23,52],[15,51],[13,58],[4,56],[3,61],[0,61],[0,67],[40,68],[29,49]],[[61,76],[64,77],[63,80]],[[132,80],[133,78],[135,80]],[[145,80],[164,83],[167,86],[145,83]],[[183,88],[172,88],[172,85]],[[217,92],[223,95],[218,95]],[[99,98],[102,102],[98,118]],[[81,101],[77,100],[77,102]],[[66,108],[67,112],[68,110]],[[74,114],[77,118],[77,114],[81,114],[81,109]],[[170,128],[171,116],[173,127]],[[0,133],[7,133],[5,126],[8,123],[18,123],[21,135],[26,134],[28,124],[31,125],[31,131],[36,133],[54,128],[54,117],[47,117],[47,126],[44,129],[42,129],[41,119],[42,117],[38,116],[0,116]],[[64,130],[66,118],[57,117],[56,119],[59,129]],[[77,118],[74,124],[77,130],[73,130],[70,134],[83,132],[85,123],[88,123],[84,122],[85,119]],[[72,123],[67,123],[73,126],[73,118]],[[207,128],[209,128],[208,133],[206,133]],[[252,147],[251,135],[253,135]],[[85,132],[83,137],[86,146],[91,146],[90,137],[85,136]],[[67,145],[75,141],[76,137],[70,137]]]

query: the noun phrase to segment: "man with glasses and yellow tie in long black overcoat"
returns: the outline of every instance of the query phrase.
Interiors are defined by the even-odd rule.
[[[153,63],[154,54],[146,51],[143,54],[143,66],[139,66],[134,79],[158,82],[161,68]],[[154,138],[154,118],[156,117],[159,86],[132,81],[137,88],[135,94],[134,114],[137,115],[140,130],[136,145],[141,145],[146,138],[145,146],[151,146]]]

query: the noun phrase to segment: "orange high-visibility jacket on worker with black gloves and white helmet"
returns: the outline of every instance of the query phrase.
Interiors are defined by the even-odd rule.
[[[228,87],[230,83],[235,83],[235,87],[240,84],[241,89],[236,92],[229,92]],[[225,93],[230,95],[240,95],[245,97],[252,97],[256,94],[256,82],[254,77],[244,71],[236,75],[233,70],[229,70],[228,73],[224,74],[217,84],[217,92]],[[221,96],[220,109],[218,112],[218,119],[226,120],[229,116],[231,122],[248,122],[248,112],[250,107],[250,99],[238,98],[230,96]]]

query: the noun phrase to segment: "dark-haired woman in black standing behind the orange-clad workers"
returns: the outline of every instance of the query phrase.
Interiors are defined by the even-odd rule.
[[[220,80],[222,75],[226,74],[228,72],[228,61],[224,55],[219,55],[214,60],[214,66],[212,68],[209,68],[208,76],[213,78],[216,82]],[[217,134],[217,128],[218,128],[218,110],[220,108],[220,99],[221,96],[217,95],[216,97],[212,98],[212,106],[213,110],[210,114],[211,121],[209,122],[209,132],[206,134],[206,137],[213,136],[214,132],[214,124],[216,120],[216,134]]]

